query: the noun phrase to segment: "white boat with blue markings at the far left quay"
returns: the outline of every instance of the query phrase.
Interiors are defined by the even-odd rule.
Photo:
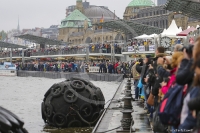
[[[16,65],[11,62],[0,64],[0,76],[17,76]]]

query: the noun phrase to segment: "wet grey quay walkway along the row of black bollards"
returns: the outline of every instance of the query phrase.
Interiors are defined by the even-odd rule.
[[[131,81],[133,82],[133,81]],[[114,94],[112,102],[107,107],[107,110],[104,111],[104,114],[96,124],[92,133],[105,133],[108,130],[115,129],[121,126],[122,113],[120,112],[123,108],[123,102],[118,102],[116,100],[121,100],[125,94],[125,86],[127,83],[127,79],[123,80],[118,90]],[[132,90],[134,87],[132,86]],[[134,97],[134,94],[132,95]],[[134,101],[133,105],[133,113],[132,117],[134,120],[133,129],[135,129],[136,133],[151,133],[152,129],[149,123],[148,116],[145,114],[145,110],[143,109],[142,101]],[[108,133],[116,133],[116,131],[121,131],[122,128],[119,127],[115,130],[109,131]],[[130,132],[130,131],[129,131]],[[125,132],[121,132],[125,133]]]

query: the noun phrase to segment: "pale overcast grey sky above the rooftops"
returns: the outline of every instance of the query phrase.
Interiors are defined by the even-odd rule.
[[[83,0],[84,1],[84,0]],[[107,6],[122,18],[131,0],[87,0],[91,5]],[[58,25],[65,18],[67,6],[76,0],[0,0],[0,31],[16,29],[18,16],[20,29]]]

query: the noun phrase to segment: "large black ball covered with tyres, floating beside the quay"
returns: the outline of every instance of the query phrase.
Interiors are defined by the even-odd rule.
[[[88,80],[71,78],[54,84],[44,95],[42,119],[54,127],[95,125],[103,112],[101,89]]]

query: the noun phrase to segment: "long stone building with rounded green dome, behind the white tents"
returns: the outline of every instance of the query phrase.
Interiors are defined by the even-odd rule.
[[[173,19],[183,30],[200,24],[198,19],[165,10],[163,4],[155,6],[151,0],[132,0],[125,9],[124,19],[163,29],[168,28]]]

